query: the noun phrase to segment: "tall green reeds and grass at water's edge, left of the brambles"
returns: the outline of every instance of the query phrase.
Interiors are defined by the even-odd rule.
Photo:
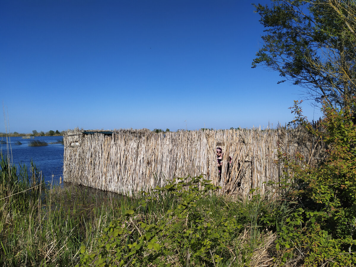
[[[80,246],[117,214],[117,201],[46,187],[41,172],[1,157],[0,262],[5,266],[74,266]]]

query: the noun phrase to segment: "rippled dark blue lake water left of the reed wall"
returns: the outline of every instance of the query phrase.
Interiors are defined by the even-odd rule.
[[[10,140],[9,140],[10,138]],[[63,152],[64,146],[62,144],[51,144],[63,140],[63,136],[36,136],[35,138],[22,138],[22,137],[0,137],[0,140],[7,142],[1,144],[2,155],[7,154],[7,146],[9,147],[10,157],[12,154],[12,163],[23,165],[28,168],[31,166],[31,159],[36,164],[36,167],[42,171],[42,176],[46,183],[52,182],[53,184],[59,183],[59,177],[63,181]],[[45,141],[48,146],[28,146],[31,141]],[[17,141],[21,145],[16,145]]]

